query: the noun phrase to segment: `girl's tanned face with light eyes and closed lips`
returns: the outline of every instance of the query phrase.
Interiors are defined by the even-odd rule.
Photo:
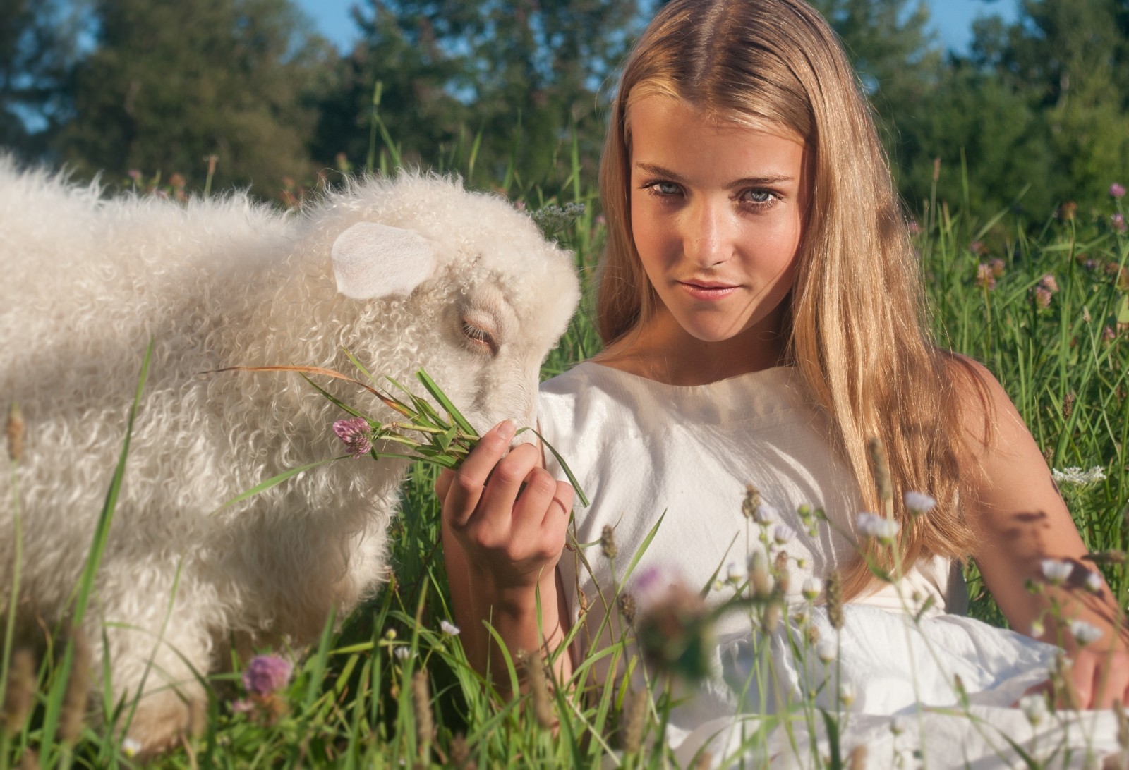
[[[660,95],[630,121],[631,231],[657,313],[699,342],[776,340],[804,234],[804,145]]]

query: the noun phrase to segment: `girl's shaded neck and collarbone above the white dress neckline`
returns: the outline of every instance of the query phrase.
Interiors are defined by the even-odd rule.
[[[708,385],[780,366],[785,344],[779,329],[773,318],[727,340],[704,342],[660,308],[594,360],[666,385]]]

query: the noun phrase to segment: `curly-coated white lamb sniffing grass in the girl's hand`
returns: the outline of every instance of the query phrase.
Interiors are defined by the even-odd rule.
[[[154,340],[81,629],[94,659],[108,656],[115,699],[140,698],[129,735],[146,751],[189,727],[198,675],[228,640],[303,645],[373,594],[406,470],[341,460],[217,510],[341,455],[331,427],[347,414],[294,374],[200,373],[355,371],[349,350],[404,385],[425,368],[480,430],[533,425],[540,365],[579,299],[570,255],[527,216],[420,174],[353,182],[288,217],[243,194],[106,200],[0,157],[0,402],[20,405],[27,431],[20,632],[68,616]],[[325,385],[392,418],[359,388]],[[3,466],[0,606],[11,476]]]

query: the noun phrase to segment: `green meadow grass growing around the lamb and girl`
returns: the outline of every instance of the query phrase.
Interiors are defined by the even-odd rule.
[[[470,163],[473,166],[473,146]],[[546,204],[585,204],[575,218],[555,221],[553,235],[576,254],[586,300],[544,365],[543,375],[549,377],[598,350],[590,296],[605,234],[595,194],[581,185],[576,157],[563,178],[551,186],[523,187],[509,174],[497,186],[531,211]],[[546,193],[546,189],[554,192]],[[1127,545],[1129,237],[1111,220],[1119,204],[1111,200],[1108,209],[1093,212],[1071,212],[1065,207],[1059,216],[1031,229],[1008,213],[951,212],[934,201],[921,212],[917,235],[938,339],[992,370],[1051,469],[1100,469],[1093,475],[1104,476],[1073,483],[1067,474],[1061,483],[1086,545],[1094,552],[1123,552]],[[312,392],[310,397],[318,396]],[[128,436],[122,453],[122,463],[126,462]],[[122,465],[115,480],[121,470]],[[252,702],[247,710],[233,708],[245,695],[238,663],[235,673],[209,677],[211,697],[199,734],[186,736],[181,747],[154,765],[584,768],[609,758],[622,767],[672,763],[663,747],[669,691],[662,682],[649,693],[607,686],[585,698],[566,698],[564,688],[535,685],[514,699],[499,695],[471,668],[458,636],[441,625],[452,620],[452,613],[438,545],[435,473],[417,464],[403,487],[401,515],[390,536],[391,581],[349,618],[331,619],[313,648],[274,650],[294,656],[297,665],[289,684],[270,699]],[[111,489],[106,517],[112,516],[113,505]],[[99,532],[90,569],[78,588],[76,612],[82,611],[93,587],[104,544],[104,528]],[[630,571],[628,555],[616,565],[620,575]],[[1124,566],[1114,559],[1099,567],[1124,606],[1129,592]],[[968,579],[971,614],[1003,624],[974,567],[969,567]],[[749,606],[751,613],[765,610]],[[11,618],[14,607],[3,611]],[[765,618],[759,615],[758,622]],[[55,636],[54,649],[28,674],[26,664],[17,663],[10,624],[8,631],[0,658],[0,691],[7,685],[8,692],[0,718],[0,770],[36,764],[137,764],[122,735],[96,720],[81,719],[81,703],[68,694],[73,690],[69,684],[76,679],[75,670],[82,664],[75,641],[64,633]],[[803,640],[795,644],[802,647]],[[590,682],[599,659],[614,662],[631,655],[621,639],[581,660],[576,679]],[[86,675],[97,677],[103,672],[94,663]],[[624,659],[625,665],[637,663]],[[505,676],[513,683],[518,677],[539,681],[537,672],[518,660],[513,660]],[[23,702],[20,697],[30,700]],[[108,702],[108,697],[105,700],[107,712],[130,708]],[[815,718],[811,703],[802,709]],[[546,726],[550,715],[555,728]],[[844,767],[848,761],[833,753],[828,765]]]

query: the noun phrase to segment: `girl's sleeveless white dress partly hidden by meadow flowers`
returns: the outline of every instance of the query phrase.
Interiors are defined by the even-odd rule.
[[[627,631],[615,594],[621,584],[631,590],[625,571],[637,552],[634,576],[665,570],[693,590],[714,586],[712,604],[733,596],[725,578],[752,550],[788,553],[789,614],[806,620],[772,635],[754,632],[741,612],[718,621],[712,675],[693,692],[676,692],[686,697],[666,726],[681,763],[708,751],[716,765],[744,755],[754,767],[815,767],[813,752],[830,756],[832,743],[843,759],[865,744],[865,765],[874,768],[1024,767],[1021,751],[1038,767],[1088,767],[1118,751],[1111,711],[1060,711],[1033,725],[1012,708],[1047,679],[1059,650],[953,614],[965,609],[964,586],[945,559],[921,561],[896,586],[855,600],[840,632],[823,607],[805,602],[805,578],[850,560],[859,502],[849,469],[826,441],[825,418],[794,369],[679,387],[585,362],[542,385],[539,421],[590,500],[576,504],[577,545],[559,567],[572,622],[584,625],[581,656]],[[761,525],[741,510],[749,483],[760,490],[761,514],[773,520],[763,527],[768,544]],[[797,514],[802,505],[826,513],[814,535]],[[605,525],[614,527],[612,560],[599,545]],[[782,545],[772,540],[777,534]],[[823,650],[838,642],[838,664],[797,644],[807,638],[804,624],[816,627]],[[622,659],[605,656],[594,671],[596,682],[619,681]],[[632,689],[642,686],[641,676],[634,668]],[[804,693],[834,717],[838,742],[829,741],[822,715],[799,706]]]

